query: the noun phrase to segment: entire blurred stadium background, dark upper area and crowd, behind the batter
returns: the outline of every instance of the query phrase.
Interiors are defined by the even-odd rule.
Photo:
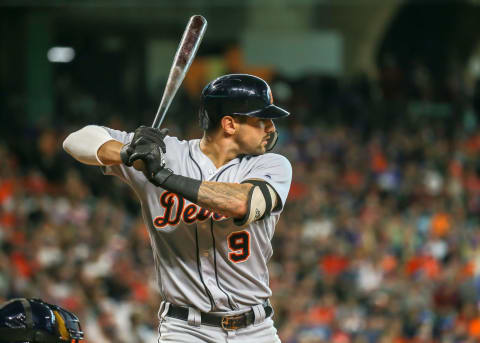
[[[0,300],[64,306],[88,342],[155,341],[136,199],[61,142],[149,124],[192,14],[209,27],[173,134],[200,134],[199,92],[224,73],[265,78],[292,113],[270,263],[282,341],[478,342],[474,0],[0,1]]]

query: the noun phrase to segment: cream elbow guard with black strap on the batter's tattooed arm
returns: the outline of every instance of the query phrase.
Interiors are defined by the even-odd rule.
[[[251,183],[253,187],[248,193],[247,214],[240,219],[234,219],[238,226],[248,225],[270,215],[277,200],[277,194],[265,181],[247,180],[243,183]]]

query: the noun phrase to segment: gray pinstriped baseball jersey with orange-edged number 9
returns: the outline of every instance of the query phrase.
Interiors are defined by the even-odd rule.
[[[133,133],[105,129],[123,143],[133,137]],[[267,153],[238,157],[217,169],[199,143],[198,139],[180,141],[167,136],[167,167],[175,174],[203,181],[265,180],[279,195],[280,208],[263,220],[239,227],[232,218],[154,186],[132,167],[109,166],[104,172],[128,183],[141,202],[164,300],[203,312],[246,309],[271,295],[267,262],[292,168],[285,157]]]

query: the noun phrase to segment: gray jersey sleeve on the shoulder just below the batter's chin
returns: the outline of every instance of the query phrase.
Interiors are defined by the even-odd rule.
[[[270,153],[262,155],[242,182],[251,179],[263,180],[275,190],[281,203],[273,212],[283,209],[292,183],[292,165],[287,158]]]

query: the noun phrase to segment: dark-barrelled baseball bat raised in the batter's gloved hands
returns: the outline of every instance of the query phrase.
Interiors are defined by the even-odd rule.
[[[192,64],[206,29],[207,20],[203,16],[194,15],[190,17],[190,20],[185,27],[185,31],[183,32],[182,40],[180,41],[180,44],[178,44],[175,57],[173,58],[172,67],[168,74],[162,100],[158,106],[152,127],[159,128],[162,125],[173,97],[180,88],[180,85]],[[136,160],[133,163],[133,166],[137,170],[144,170],[145,167],[142,160]]]

